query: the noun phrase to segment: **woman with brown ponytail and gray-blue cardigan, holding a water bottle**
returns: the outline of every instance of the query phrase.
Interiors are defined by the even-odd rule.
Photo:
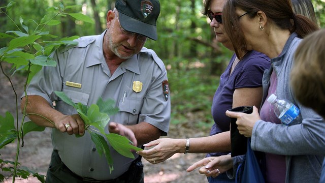
[[[239,17],[241,17],[239,19]],[[263,104],[258,113],[227,111],[237,118],[239,132],[251,137],[251,148],[265,153],[266,182],[318,182],[325,151],[324,120],[302,106],[289,86],[289,73],[296,48],[318,26],[293,12],[289,0],[229,0],[223,10],[225,31],[235,52],[257,50],[271,58],[271,68],[263,77]],[[308,60],[305,60],[308,62]],[[281,124],[266,99],[276,94],[300,108],[298,124]],[[240,158],[240,157],[238,157]],[[236,170],[237,157],[233,159]]]

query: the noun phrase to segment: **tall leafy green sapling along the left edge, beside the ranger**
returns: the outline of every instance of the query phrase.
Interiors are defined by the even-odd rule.
[[[34,31],[30,31],[27,24],[25,23],[22,17],[19,17],[19,23],[16,24],[15,21],[8,14],[11,9],[14,8],[16,2],[10,2],[5,7],[0,7],[0,14],[5,14],[6,17],[15,25],[16,30],[6,31],[5,33],[0,33],[0,39],[9,39],[9,44],[6,47],[0,48],[0,68],[2,73],[9,80],[13,92],[15,93],[16,98],[16,127],[15,119],[10,112],[6,112],[6,115],[3,117],[0,115],[0,148],[3,148],[9,143],[12,143],[17,139],[17,151],[15,162],[4,161],[0,159],[0,169],[2,172],[10,172],[13,176],[13,182],[15,182],[15,177],[26,178],[28,176],[37,176],[41,182],[45,182],[43,175],[38,175],[38,173],[32,172],[26,168],[18,169],[18,157],[19,157],[19,148],[20,148],[20,139],[22,139],[23,146],[23,137],[25,134],[32,131],[44,131],[44,127],[39,127],[32,121],[24,122],[26,117],[25,109],[23,110],[23,118],[21,123],[18,123],[18,98],[14,85],[10,79],[10,75],[7,74],[3,68],[3,63],[8,63],[12,65],[12,75],[17,71],[26,72],[26,82],[24,83],[24,91],[26,94],[26,85],[29,83],[30,79],[43,67],[43,66],[56,66],[55,60],[49,55],[58,49],[60,46],[66,45],[77,45],[77,42],[73,41],[78,36],[73,36],[69,38],[58,38],[57,36],[51,35],[48,31],[44,31],[46,26],[53,26],[61,23],[59,20],[56,20],[58,15],[62,16],[71,16],[74,19],[94,23],[93,20],[82,13],[64,13],[67,9],[73,8],[74,6],[64,7],[63,4],[59,3],[59,7],[50,7],[47,9],[47,12],[53,14],[48,17],[44,17],[40,21],[32,20],[33,23],[37,25]],[[20,28],[21,27],[21,28]],[[51,39],[51,40],[49,40]],[[53,41],[53,39],[58,39],[58,41]],[[11,76],[12,76],[11,75]],[[26,102],[28,103],[28,101]],[[14,167],[9,167],[13,165]],[[0,181],[3,181],[6,177],[0,173]]]

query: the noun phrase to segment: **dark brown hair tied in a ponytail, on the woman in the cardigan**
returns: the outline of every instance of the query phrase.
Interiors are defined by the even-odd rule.
[[[319,29],[318,25],[309,18],[296,14],[291,7],[290,0],[228,0],[223,7],[222,21],[226,34],[234,45],[239,58],[243,55],[240,50],[246,50],[243,33],[236,15],[236,8],[247,12],[247,16],[253,18],[258,11],[263,11],[268,21],[273,22],[281,29],[296,32],[300,38]],[[238,34],[232,34],[239,31]]]

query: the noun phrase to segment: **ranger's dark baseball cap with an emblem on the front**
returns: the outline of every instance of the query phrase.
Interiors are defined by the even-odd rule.
[[[156,21],[160,13],[158,0],[117,0],[115,8],[120,24],[126,31],[157,40]]]

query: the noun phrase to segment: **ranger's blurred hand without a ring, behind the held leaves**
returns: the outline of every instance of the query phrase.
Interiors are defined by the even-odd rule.
[[[108,131],[110,133],[115,133],[115,134],[125,136],[127,139],[129,139],[129,140],[131,140],[133,142],[134,146],[138,145],[138,141],[137,141],[137,139],[136,139],[136,137],[134,135],[134,132],[131,129],[125,127],[122,124],[111,122],[108,125]]]

